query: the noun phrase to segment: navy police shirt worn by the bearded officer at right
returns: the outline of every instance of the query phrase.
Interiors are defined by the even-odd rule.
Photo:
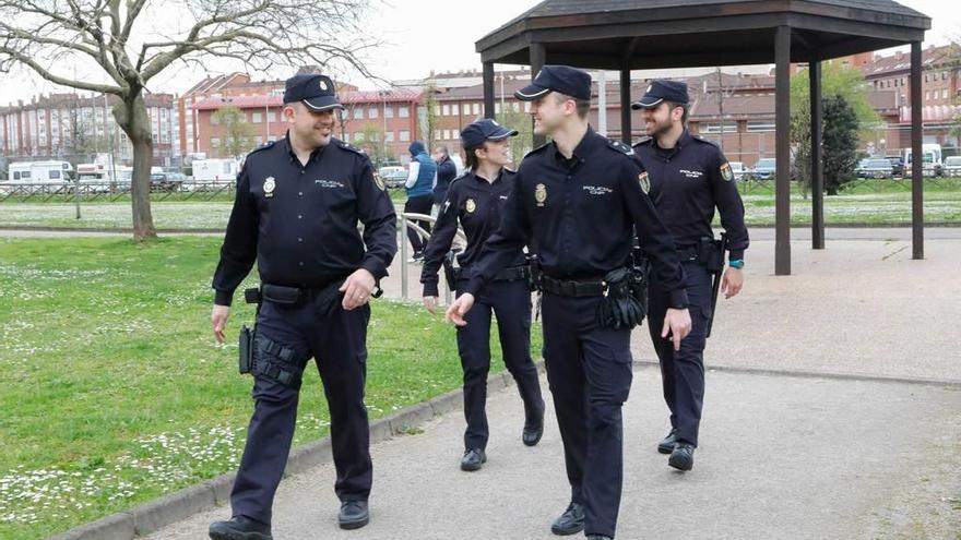
[[[684,130],[674,148],[661,148],[649,139],[634,145],[634,154],[648,170],[657,214],[679,248],[714,236],[711,223],[716,206],[727,231],[729,259],[744,257],[748,247],[744,203],[720,147]]]

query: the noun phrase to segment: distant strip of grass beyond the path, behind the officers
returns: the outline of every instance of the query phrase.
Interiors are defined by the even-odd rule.
[[[774,224],[773,184],[740,184],[750,226]],[[403,209],[403,190],[391,190],[398,212]],[[926,181],[924,194],[925,221],[928,224],[961,223],[961,179]],[[161,229],[214,229],[226,227],[232,201],[156,201],[152,205],[154,224]],[[793,225],[811,221],[810,199],[796,189],[791,196]],[[840,195],[824,197],[824,221],[830,225],[903,225],[911,223],[910,187],[901,181],[866,180]],[[68,202],[0,203],[0,227],[130,228],[129,202],[85,202],[81,219]]]

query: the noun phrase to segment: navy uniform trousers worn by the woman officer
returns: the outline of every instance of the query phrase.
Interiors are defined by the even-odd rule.
[[[466,285],[461,280],[460,285]],[[460,291],[458,291],[460,296]],[[500,350],[524,403],[525,425],[541,422],[544,399],[531,359],[531,290],[526,281],[490,281],[458,327],[458,351],[464,369],[464,448],[487,448],[487,374],[490,371],[490,314],[497,315]]]

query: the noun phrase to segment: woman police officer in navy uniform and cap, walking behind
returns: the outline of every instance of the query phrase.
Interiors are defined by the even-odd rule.
[[[464,127],[461,143],[466,154],[467,170],[454,181],[441,205],[434,232],[427,242],[420,283],[424,284],[424,307],[434,313],[437,307],[437,272],[451,249],[458,224],[464,228],[467,245],[458,256],[458,292],[467,285],[471,265],[484,242],[500,224],[501,208],[514,182],[514,172],[505,168],[510,163],[508,139],[515,130],[490,119]],[[450,264],[450,262],[448,262]],[[544,431],[544,400],[537,369],[531,360],[531,290],[530,268],[524,253],[518,249],[507,269],[477,297],[466,315],[467,325],[458,327],[458,351],[464,369],[464,455],[461,469],[478,470],[487,460],[487,372],[490,370],[490,315],[497,315],[497,329],[503,363],[518,383],[524,401],[524,429],[521,440],[534,446]]]

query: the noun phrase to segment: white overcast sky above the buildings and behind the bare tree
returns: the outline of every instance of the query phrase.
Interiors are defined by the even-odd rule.
[[[474,51],[474,43],[507,21],[523,13],[538,0],[388,0],[380,3],[378,13],[372,15],[370,29],[389,45],[377,53],[369,55],[371,70],[388,80],[418,79],[430,70],[458,71],[480,69],[480,58]],[[961,36],[950,0],[901,0],[932,17],[932,29],[927,33],[928,44],[942,45],[951,38]],[[215,65],[220,71],[235,71],[235,65]],[[252,73],[254,79],[268,76],[284,79],[289,73]],[[0,81],[0,104],[16,99],[28,100],[39,93],[63,92],[50,83],[21,71],[2,74]],[[90,73],[91,79],[102,75]],[[188,69],[170,71],[158,75],[151,84],[153,92],[181,93],[204,76],[203,72]],[[361,88],[372,87],[372,83],[355,77],[349,81]]]

